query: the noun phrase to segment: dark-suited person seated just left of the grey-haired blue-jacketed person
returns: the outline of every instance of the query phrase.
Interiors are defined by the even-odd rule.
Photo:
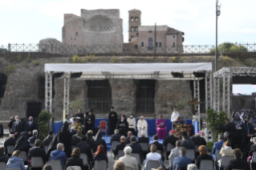
[[[30,160],[31,157],[42,157],[44,164],[47,162],[47,154],[41,147],[41,140],[35,140],[35,147],[30,148],[30,151],[28,152],[28,159]]]

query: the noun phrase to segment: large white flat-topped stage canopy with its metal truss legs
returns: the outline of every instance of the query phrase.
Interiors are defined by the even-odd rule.
[[[205,108],[212,107],[212,63],[47,63],[45,109],[52,113],[52,75],[63,72],[64,79],[63,110],[69,113],[70,79],[172,79],[193,80],[194,98],[200,102],[199,80],[205,79]],[[79,76],[72,76],[79,73]],[[202,73],[204,77],[196,76]],[[200,118],[200,104],[197,113]]]

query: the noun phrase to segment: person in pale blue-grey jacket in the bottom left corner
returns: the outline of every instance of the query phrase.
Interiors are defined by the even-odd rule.
[[[21,158],[22,152],[14,151],[13,155],[10,157],[6,164],[6,169],[10,168],[18,168],[19,170],[26,170],[26,166],[24,165],[24,161]]]

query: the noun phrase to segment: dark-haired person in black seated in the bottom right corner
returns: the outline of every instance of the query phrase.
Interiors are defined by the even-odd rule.
[[[244,170],[250,170],[249,164],[246,162],[246,160],[242,160],[242,152],[240,149],[236,148],[234,149],[234,160],[230,160],[230,163],[226,166],[226,170],[232,170],[232,169],[244,169]]]

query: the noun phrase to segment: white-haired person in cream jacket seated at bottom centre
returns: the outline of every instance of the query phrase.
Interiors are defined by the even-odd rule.
[[[125,167],[132,167],[134,170],[139,170],[138,163],[136,158],[131,156],[132,148],[131,147],[125,147],[124,148],[124,156],[120,157],[119,160],[121,160]]]

